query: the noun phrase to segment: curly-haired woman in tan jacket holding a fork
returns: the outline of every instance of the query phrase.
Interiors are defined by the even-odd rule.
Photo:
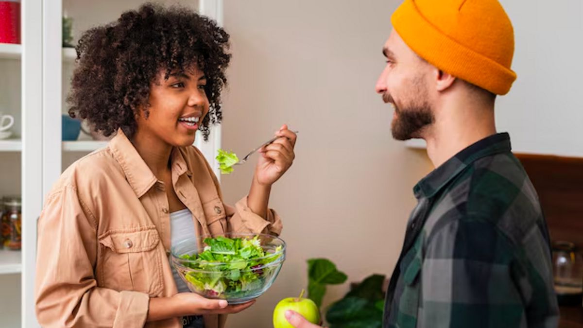
[[[73,163],[46,198],[36,284],[44,327],[217,328],[252,305],[188,292],[168,262],[170,247],[192,236],[282,229],[268,199],[295,156],[286,125],[234,208],[192,146],[197,130],[206,139],[221,120],[228,41],[208,18],[154,5],[81,37],[69,113],[115,137]]]

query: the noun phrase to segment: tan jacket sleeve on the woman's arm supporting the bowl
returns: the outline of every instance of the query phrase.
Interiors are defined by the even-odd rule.
[[[66,186],[38,220],[36,314],[43,327],[143,327],[149,296],[97,287],[97,221]]]

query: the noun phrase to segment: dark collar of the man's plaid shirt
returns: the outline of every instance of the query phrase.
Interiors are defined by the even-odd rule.
[[[462,172],[463,169],[477,159],[510,151],[510,135],[507,132],[490,135],[490,137],[477,141],[475,144],[458,152],[455,156],[429,173],[429,175],[421,179],[413,187],[413,193],[415,193],[417,199],[433,197],[454,179],[454,177]]]

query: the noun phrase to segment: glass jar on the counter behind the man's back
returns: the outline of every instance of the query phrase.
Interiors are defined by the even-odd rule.
[[[553,243],[554,290],[559,305],[583,305],[583,254],[574,243]]]

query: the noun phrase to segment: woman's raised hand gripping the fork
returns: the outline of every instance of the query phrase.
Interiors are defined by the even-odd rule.
[[[296,134],[283,125],[275,136],[280,138],[261,149],[262,156],[255,168],[255,181],[262,186],[271,186],[279,180],[296,158]]]

